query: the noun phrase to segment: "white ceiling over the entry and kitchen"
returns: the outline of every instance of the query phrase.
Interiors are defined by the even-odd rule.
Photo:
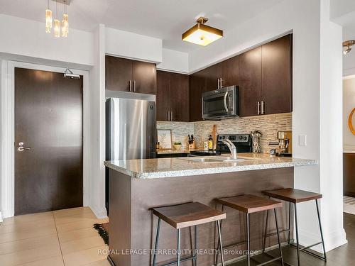
[[[200,46],[182,42],[181,34],[206,16],[207,24],[228,31],[283,0],[72,0],[70,27],[92,31],[109,28],[163,39],[163,47],[191,52]],[[55,14],[55,2],[50,0]],[[45,21],[47,0],[0,0],[0,13]],[[62,13],[62,5],[60,5]]]

